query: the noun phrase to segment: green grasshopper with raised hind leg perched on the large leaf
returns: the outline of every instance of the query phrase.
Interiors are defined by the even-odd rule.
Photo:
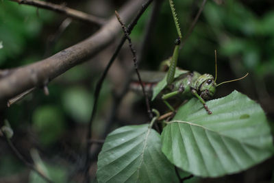
[[[199,101],[203,104],[204,108],[208,112],[208,114],[212,114],[208,106],[206,105],[206,100],[211,99],[216,91],[216,87],[221,84],[227,82],[234,82],[237,80],[242,80],[244,77],[248,75],[248,73],[241,78],[236,80],[230,80],[227,82],[222,82],[221,84],[216,84],[216,76],[217,76],[217,66],[216,66],[216,50],[215,50],[215,69],[216,76],[210,74],[203,74],[194,71],[186,71],[182,69],[178,69],[177,58],[179,53],[179,39],[175,40],[175,49],[173,51],[173,57],[170,60],[169,71],[166,73],[164,79],[159,82],[155,88],[153,89],[153,97],[152,100],[155,99],[162,91],[166,94],[162,95],[162,99],[166,106],[169,107],[173,112],[175,109],[167,99],[171,97],[179,97],[180,99],[187,99],[190,97],[197,97]]]

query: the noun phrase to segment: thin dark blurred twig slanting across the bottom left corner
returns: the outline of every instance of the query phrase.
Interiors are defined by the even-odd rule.
[[[14,152],[14,154],[16,155],[16,157],[19,160],[21,160],[27,167],[29,167],[29,169],[32,169],[32,171],[35,171],[36,173],[38,173],[38,175],[40,175],[40,177],[43,178],[45,181],[53,183],[51,180],[49,180],[49,178],[47,178],[44,174],[42,174],[42,172],[40,172],[38,169],[36,169],[36,167],[34,166],[34,164],[28,162],[23,157],[23,155],[13,145],[12,141],[10,141],[10,138],[8,138],[8,136],[6,136],[5,132],[3,132],[1,129],[0,129],[0,131],[2,132],[2,134],[4,134],[5,141],[7,141],[8,145],[10,146],[10,149],[12,149],[12,151]]]

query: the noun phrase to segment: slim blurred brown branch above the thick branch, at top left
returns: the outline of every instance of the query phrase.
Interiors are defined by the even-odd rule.
[[[98,25],[103,25],[106,23],[105,19],[99,18],[97,16],[93,16],[90,14],[86,14],[84,12],[80,12],[78,10],[73,10],[71,8],[67,8],[64,5],[58,5],[54,3],[49,3],[46,1],[38,1],[38,0],[10,0],[17,2],[19,4],[25,4],[25,5],[33,5],[38,8],[43,8],[46,10],[52,10],[54,12],[66,14],[66,16],[69,16],[73,19],[84,21],[88,23],[96,23]]]

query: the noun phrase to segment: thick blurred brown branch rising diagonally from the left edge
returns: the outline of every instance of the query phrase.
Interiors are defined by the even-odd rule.
[[[122,9],[120,16],[125,22],[137,12],[143,1],[131,0]],[[113,16],[98,32],[72,47],[64,49],[55,55],[39,62],[5,71],[0,77],[0,108],[8,99],[33,87],[43,87],[58,75],[73,66],[92,58],[107,47],[115,36],[120,33],[121,25]]]

